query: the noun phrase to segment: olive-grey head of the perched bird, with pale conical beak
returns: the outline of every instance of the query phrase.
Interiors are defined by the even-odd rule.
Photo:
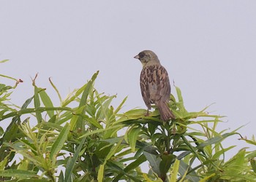
[[[159,63],[157,55],[151,50],[143,50],[134,58],[140,60],[143,66],[149,66],[151,64]]]

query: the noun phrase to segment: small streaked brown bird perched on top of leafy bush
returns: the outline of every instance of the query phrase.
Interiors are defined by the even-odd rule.
[[[139,59],[143,65],[140,73],[140,90],[148,110],[154,103],[159,109],[160,118],[163,121],[174,119],[175,116],[167,106],[170,100],[169,77],[157,55],[151,50],[143,50],[134,58]]]

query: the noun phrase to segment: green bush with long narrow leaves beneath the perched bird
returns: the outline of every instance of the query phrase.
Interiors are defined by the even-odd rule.
[[[2,61],[4,62],[4,61]],[[217,131],[222,116],[184,107],[181,90],[171,95],[176,119],[162,122],[145,109],[120,113],[116,95],[97,92],[89,82],[55,107],[33,80],[34,95],[23,106],[10,103],[14,86],[0,83],[0,181],[256,181],[256,151],[222,146],[233,130]],[[3,129],[3,124],[8,127]],[[242,142],[241,141],[241,142]]]

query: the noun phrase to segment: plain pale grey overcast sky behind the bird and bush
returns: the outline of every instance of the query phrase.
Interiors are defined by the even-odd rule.
[[[64,98],[95,71],[95,87],[123,111],[146,108],[142,68],[133,57],[153,50],[170,80],[181,88],[188,111],[205,106],[227,116],[219,130],[255,134],[256,1],[1,1],[0,74],[23,79],[12,95],[22,104],[33,95],[31,77],[48,88],[51,77]],[[0,77],[1,83],[7,83]],[[11,82],[8,82],[11,83]],[[176,95],[175,90],[172,90]],[[1,126],[4,124],[0,122]],[[232,144],[248,146],[233,137]]]

